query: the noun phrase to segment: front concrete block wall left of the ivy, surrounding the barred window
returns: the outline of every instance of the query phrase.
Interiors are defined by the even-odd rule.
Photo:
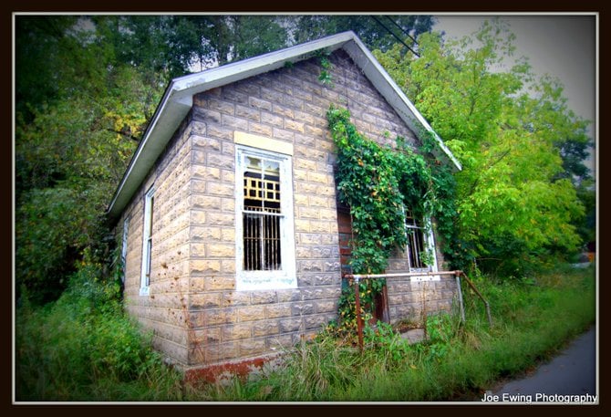
[[[192,263],[202,265],[191,278],[193,365],[282,351],[337,314],[335,159],[326,137],[326,109],[312,112],[312,90],[321,90],[317,75],[306,81],[286,72],[194,98],[193,120],[205,124],[206,135],[193,138],[193,178],[201,173],[204,182],[192,194],[192,210],[198,212]],[[235,131],[293,145],[296,289],[235,290]]]

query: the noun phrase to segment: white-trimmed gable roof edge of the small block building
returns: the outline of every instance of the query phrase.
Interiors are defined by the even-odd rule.
[[[181,121],[192,109],[193,96],[209,89],[215,89],[244,78],[253,77],[264,72],[282,68],[285,63],[295,63],[309,57],[319,50],[333,52],[344,49],[357,64],[378,92],[388,101],[388,104],[397,111],[397,114],[417,135],[421,129],[429,131],[440,146],[440,150],[461,170],[461,163],[441,141],[439,135],[432,130],[427,120],[418,109],[409,101],[395,81],[378,63],[368,48],[352,32],[343,32],[334,36],[327,36],[305,44],[287,47],[258,57],[251,57],[236,61],[223,67],[206,69],[202,72],[190,74],[171,80],[165,90],[161,103],[150,122],[149,128],[144,132],[138,149],[129,162],[129,167],[117,191],[109,204],[109,217],[117,218],[132,195],[144,181],[150,168],[153,166],[161,151],[171,140],[174,131]]]

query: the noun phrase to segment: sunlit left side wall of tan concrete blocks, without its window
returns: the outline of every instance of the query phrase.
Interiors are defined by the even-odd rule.
[[[119,220],[129,218],[125,306],[153,346],[172,363],[187,363],[191,125],[186,121],[150,170]],[[145,194],[154,185],[150,295],[140,296]]]

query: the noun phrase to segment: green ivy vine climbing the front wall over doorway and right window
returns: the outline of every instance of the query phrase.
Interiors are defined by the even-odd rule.
[[[414,152],[400,137],[395,148],[369,140],[350,122],[347,109],[332,104],[326,117],[337,146],[338,198],[349,206],[352,228],[358,236],[350,261],[354,274],[383,273],[392,252],[408,244],[406,209],[420,219],[436,218],[438,234],[444,241],[452,241],[455,186],[450,170],[432,156],[435,146],[432,138],[425,135],[421,148],[427,155],[424,156]],[[359,283],[361,315],[366,322],[372,316],[375,297],[385,284],[378,279]],[[346,330],[356,328],[352,285],[343,288],[339,324]]]

